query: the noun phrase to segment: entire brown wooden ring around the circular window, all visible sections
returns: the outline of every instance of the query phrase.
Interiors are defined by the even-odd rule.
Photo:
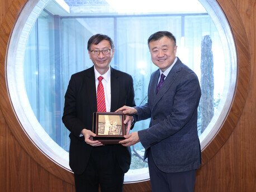
[[[43,151],[40,151],[34,142],[30,140],[30,137],[23,131],[22,126],[12,109],[12,101],[8,95],[8,88],[6,85],[6,67],[5,58],[8,50],[8,40],[11,36],[12,28],[20,14],[22,8],[26,4],[26,0],[13,0],[10,4],[8,12],[3,18],[3,22],[0,27],[0,107],[4,120],[6,120],[9,129],[15,136],[20,146],[32,157],[42,168],[49,171],[49,173],[57,176],[61,180],[73,184],[73,175],[70,171],[63,169],[60,165],[54,163],[51,159],[44,155]],[[250,55],[248,40],[246,39],[246,33],[244,30],[243,22],[239,16],[235,5],[231,1],[217,0],[220,7],[224,10],[227,20],[230,23],[231,31],[234,35],[234,41],[238,56],[238,77],[236,82],[235,94],[233,103],[230,106],[229,113],[226,116],[225,121],[221,125],[219,132],[210,144],[208,144],[202,151],[202,164],[206,164],[217,151],[220,150],[222,145],[225,144],[231,133],[234,131],[238,124],[241,112],[245,105],[247,93],[249,91],[249,77],[250,77]],[[138,187],[139,186],[139,187]],[[137,190],[136,190],[137,189]],[[126,184],[125,191],[145,191],[150,189],[149,181],[138,184]]]

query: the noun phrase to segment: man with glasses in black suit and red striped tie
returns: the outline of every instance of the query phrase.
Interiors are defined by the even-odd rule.
[[[110,37],[92,36],[87,49],[93,66],[72,75],[65,94],[62,120],[70,131],[69,165],[74,171],[77,192],[96,192],[99,185],[102,192],[120,192],[124,174],[130,168],[130,147],[93,141],[93,112],[99,109],[100,84],[104,111],[135,106],[133,81],[127,73],[110,67],[115,51]]]

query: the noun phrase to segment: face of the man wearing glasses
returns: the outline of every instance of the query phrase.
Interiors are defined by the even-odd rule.
[[[99,50],[99,55],[93,55],[91,51]],[[89,57],[92,60],[96,70],[98,72],[107,72],[110,67],[110,62],[114,55],[114,50],[111,50],[109,54],[104,55],[102,50],[111,50],[110,42],[107,40],[102,40],[98,45],[92,44],[91,50],[88,51]]]

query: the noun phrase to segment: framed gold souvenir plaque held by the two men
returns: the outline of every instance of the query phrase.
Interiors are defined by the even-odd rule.
[[[102,144],[118,144],[124,140],[126,127],[124,125],[125,115],[121,112],[94,112],[93,113],[93,132]]]

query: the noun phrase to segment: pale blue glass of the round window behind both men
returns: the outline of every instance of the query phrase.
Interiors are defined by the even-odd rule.
[[[26,92],[37,120],[66,151],[69,132],[61,122],[64,93],[73,73],[92,66],[87,41],[95,33],[105,33],[114,40],[116,51],[111,66],[134,78],[136,105],[147,101],[150,75],[157,70],[151,62],[148,37],[164,30],[176,36],[177,56],[201,80],[198,135],[208,129],[221,100],[226,99],[223,82],[229,83],[228,54],[225,56],[219,32],[198,1],[178,1],[171,6],[161,6],[163,9],[147,1],[143,6],[136,6],[134,12],[129,7],[124,9],[120,2],[50,1],[30,32],[24,60]],[[140,121],[134,131],[146,129],[148,125],[149,120]],[[141,144],[132,146],[133,173],[147,168],[143,155]]]

